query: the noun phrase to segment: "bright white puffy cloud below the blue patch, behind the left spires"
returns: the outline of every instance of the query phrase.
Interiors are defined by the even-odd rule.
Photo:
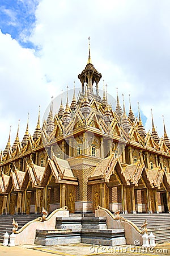
[[[1,147],[6,146],[10,125],[12,142],[20,118],[20,139],[25,132],[27,113],[30,113],[30,131],[36,127],[39,104],[44,111],[50,92],[40,68],[40,59],[33,51],[19,46],[11,36],[0,32],[0,134]],[[6,133],[4,132],[6,131]]]

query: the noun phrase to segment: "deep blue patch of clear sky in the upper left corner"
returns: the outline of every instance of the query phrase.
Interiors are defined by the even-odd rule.
[[[0,24],[3,34],[10,34],[22,47],[34,48],[29,36],[35,27],[38,0],[1,0]]]

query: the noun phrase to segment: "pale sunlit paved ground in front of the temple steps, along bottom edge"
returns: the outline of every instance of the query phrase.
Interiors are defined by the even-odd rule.
[[[143,248],[139,246],[93,246],[84,243],[57,246],[2,246],[0,244],[1,256],[90,256],[90,255],[170,255],[170,243],[163,243],[155,248]]]

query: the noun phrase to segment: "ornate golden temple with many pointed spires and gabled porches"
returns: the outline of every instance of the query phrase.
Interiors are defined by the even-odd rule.
[[[170,213],[170,141],[159,138],[152,117],[146,133],[140,109],[135,117],[99,94],[99,73],[91,61],[78,75],[81,92],[65,108],[62,101],[35,133],[29,126],[22,142],[19,128],[0,154],[0,214],[48,212],[67,205],[71,213]],[[94,89],[95,88],[95,89]]]

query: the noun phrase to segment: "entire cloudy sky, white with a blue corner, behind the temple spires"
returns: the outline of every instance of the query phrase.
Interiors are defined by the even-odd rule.
[[[135,115],[139,101],[151,130],[163,135],[164,114],[170,135],[170,2],[135,0],[1,0],[0,2],[0,145],[5,148],[11,127],[14,142],[18,119],[20,141],[27,125],[36,127],[52,96],[80,87],[78,74],[88,56],[108,85],[108,93],[126,112],[129,94]],[[71,95],[70,95],[71,100]]]

